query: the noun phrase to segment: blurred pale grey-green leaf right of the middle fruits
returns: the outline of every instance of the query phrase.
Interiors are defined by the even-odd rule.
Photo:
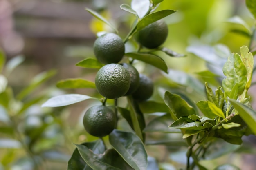
[[[200,95],[205,95],[204,84],[202,84],[198,79],[189,75],[188,73],[185,73],[183,71],[169,69],[168,74],[163,73],[163,75],[164,75],[164,77],[171,80],[172,82],[175,82],[182,86],[189,86],[191,88],[191,90],[195,90]]]

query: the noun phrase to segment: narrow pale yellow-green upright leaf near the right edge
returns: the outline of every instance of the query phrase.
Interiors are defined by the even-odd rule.
[[[247,46],[242,46],[240,48],[240,53],[241,53],[242,62],[245,65],[246,72],[247,72],[246,73],[247,83],[245,85],[245,91],[247,91],[251,86],[251,82],[252,82],[252,70],[254,66],[254,59],[253,59],[252,53],[249,52],[249,49],[247,48]]]

